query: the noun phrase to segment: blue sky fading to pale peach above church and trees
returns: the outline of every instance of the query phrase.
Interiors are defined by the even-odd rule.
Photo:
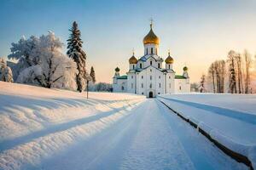
[[[73,20],[79,23],[97,82],[112,82],[114,68],[128,71],[132,48],[143,55],[143,37],[154,19],[160,37],[160,56],[168,49],[174,70],[189,67],[190,82],[198,82],[215,59],[230,49],[256,54],[256,1],[254,0],[2,0],[0,3],[0,56],[10,54],[11,42],[21,36],[54,31],[67,44]],[[66,52],[67,45],[63,49]]]

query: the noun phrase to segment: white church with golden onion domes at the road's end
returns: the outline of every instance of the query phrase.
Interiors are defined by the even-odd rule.
[[[160,38],[154,34],[152,23],[143,44],[143,56],[137,59],[132,54],[126,75],[120,76],[119,68],[115,69],[113,92],[142,94],[148,98],[154,98],[157,94],[189,93],[188,67],[183,67],[183,75],[176,75],[170,51],[165,60],[158,55]]]

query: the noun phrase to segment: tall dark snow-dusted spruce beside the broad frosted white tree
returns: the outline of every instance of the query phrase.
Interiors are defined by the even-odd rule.
[[[80,38],[81,33],[76,21],[73,22],[73,27],[69,31],[71,31],[71,35],[67,40],[67,55],[77,64],[78,73],[76,75],[76,82],[78,85],[78,91],[82,92],[85,89],[87,82],[85,68],[86,54],[82,48],[83,42]]]

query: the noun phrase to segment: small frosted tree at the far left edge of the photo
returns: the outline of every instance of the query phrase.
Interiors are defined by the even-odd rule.
[[[0,58],[0,81],[3,82],[13,82],[13,72],[7,66],[6,60]]]

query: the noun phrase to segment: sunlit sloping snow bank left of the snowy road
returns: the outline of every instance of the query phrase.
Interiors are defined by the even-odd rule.
[[[20,169],[89,139],[145,100],[0,82],[0,169]]]

